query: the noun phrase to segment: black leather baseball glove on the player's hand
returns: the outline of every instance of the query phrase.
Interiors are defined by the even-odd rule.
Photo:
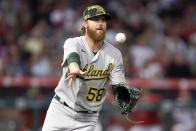
[[[125,84],[112,86],[114,95],[121,109],[121,114],[128,114],[132,111],[139,100],[142,90],[135,87],[129,87]]]

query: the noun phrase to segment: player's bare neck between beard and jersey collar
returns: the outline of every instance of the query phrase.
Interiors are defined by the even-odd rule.
[[[103,41],[95,41],[91,37],[89,37],[87,34],[85,35],[86,43],[88,44],[89,48],[92,50],[92,52],[97,52],[103,45]]]

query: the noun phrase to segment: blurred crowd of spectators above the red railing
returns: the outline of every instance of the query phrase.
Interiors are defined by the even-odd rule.
[[[196,76],[194,0],[0,0],[0,76],[60,76],[64,41],[81,35],[92,4],[112,15],[106,40],[122,51],[127,77]]]

